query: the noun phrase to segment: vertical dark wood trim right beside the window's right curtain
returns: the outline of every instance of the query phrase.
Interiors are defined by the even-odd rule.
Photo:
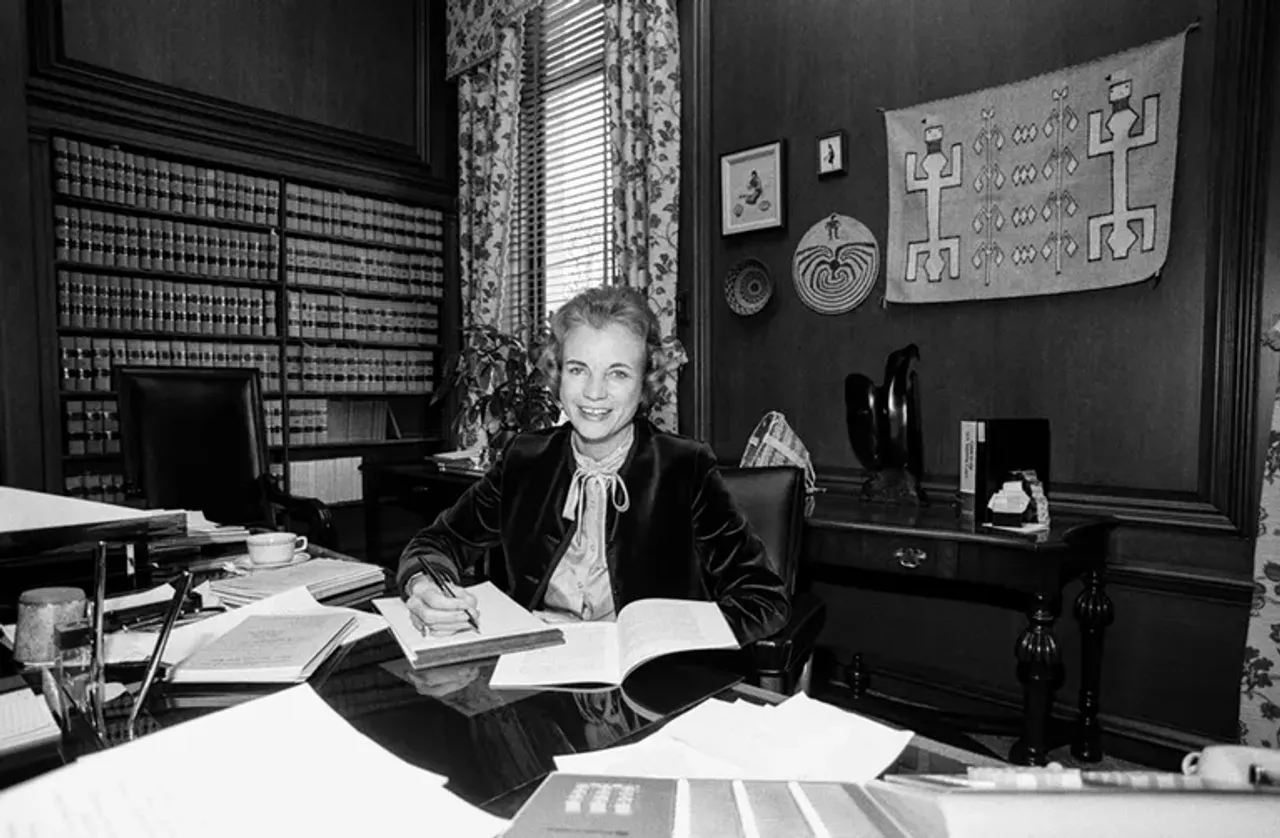
[[[695,439],[712,436],[712,242],[716,233],[713,217],[714,157],[712,155],[712,0],[690,0],[689,31],[681,38],[689,42],[691,59],[681,69],[684,77],[684,155],[687,168],[681,178],[687,194],[681,205],[687,214],[681,223],[681,249],[689,253],[689,273],[684,278],[684,320],[689,334],[690,417],[691,427],[681,431]],[[691,177],[689,174],[692,173]]]

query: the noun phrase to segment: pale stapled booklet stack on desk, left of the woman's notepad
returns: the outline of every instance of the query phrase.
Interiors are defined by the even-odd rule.
[[[301,683],[355,626],[344,613],[255,614],[174,667],[169,681]]]

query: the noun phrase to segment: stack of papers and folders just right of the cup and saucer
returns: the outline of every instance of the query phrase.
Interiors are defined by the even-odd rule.
[[[282,568],[260,568],[244,576],[210,582],[210,590],[225,605],[238,608],[275,594],[306,587],[311,596],[330,605],[381,595],[387,572],[366,562],[311,559]]]

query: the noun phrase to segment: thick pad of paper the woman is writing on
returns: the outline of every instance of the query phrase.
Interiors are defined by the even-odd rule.
[[[413,628],[404,600],[398,597],[374,600],[374,608],[387,618],[396,642],[413,669],[443,667],[564,642],[564,635],[559,628],[548,626],[530,614],[493,582],[472,585],[467,590],[476,597],[480,631],[466,629],[442,637],[424,635]]]

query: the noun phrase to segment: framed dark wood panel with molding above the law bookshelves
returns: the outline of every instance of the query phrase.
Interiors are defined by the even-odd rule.
[[[440,197],[457,187],[444,6],[429,0],[27,0],[33,123],[285,156]],[[358,188],[358,187],[353,187]]]

